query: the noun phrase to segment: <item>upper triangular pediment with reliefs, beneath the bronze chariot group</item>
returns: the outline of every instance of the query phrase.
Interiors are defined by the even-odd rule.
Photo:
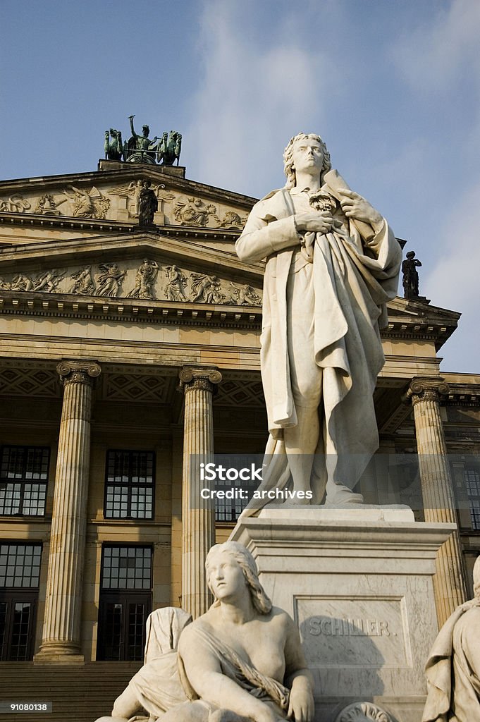
[[[100,162],[93,173],[0,182],[0,243],[48,240],[49,232],[91,236],[139,224],[139,193],[154,191],[157,227],[240,232],[255,199],[184,177],[183,168]],[[15,232],[21,225],[21,232]],[[26,229],[28,229],[26,231]]]

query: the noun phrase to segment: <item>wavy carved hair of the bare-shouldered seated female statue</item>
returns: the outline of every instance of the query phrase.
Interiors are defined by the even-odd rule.
[[[271,610],[271,601],[266,595],[266,592],[258,579],[258,570],[255,560],[248,549],[246,549],[246,547],[238,541],[225,541],[224,544],[215,544],[206,555],[206,581],[211,593],[215,596],[210,579],[211,573],[213,567],[221,562],[222,557],[227,557],[240,567],[240,570],[243,573],[244,583],[248,586],[252,604],[257,612],[260,614],[269,614]],[[214,604],[220,604],[217,597],[215,597]]]

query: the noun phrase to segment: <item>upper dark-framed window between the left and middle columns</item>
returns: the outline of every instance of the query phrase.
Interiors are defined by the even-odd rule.
[[[106,519],[153,518],[153,451],[108,451],[105,477]]]

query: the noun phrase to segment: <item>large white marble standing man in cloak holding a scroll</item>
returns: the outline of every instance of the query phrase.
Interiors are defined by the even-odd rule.
[[[326,505],[362,503],[352,490],[378,448],[379,328],[396,295],[401,248],[380,213],[331,170],[320,136],[294,136],[284,171],[286,186],[253,206],[236,243],[242,261],[267,259],[261,373],[271,462],[260,489],[292,484],[313,492],[313,504],[325,492]]]

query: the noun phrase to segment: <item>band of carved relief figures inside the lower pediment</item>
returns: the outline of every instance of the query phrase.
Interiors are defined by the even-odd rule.
[[[183,303],[259,306],[261,289],[199,273],[152,258],[119,263],[113,259],[92,266],[20,271],[0,277],[0,290],[64,293],[110,298],[138,298]]]

